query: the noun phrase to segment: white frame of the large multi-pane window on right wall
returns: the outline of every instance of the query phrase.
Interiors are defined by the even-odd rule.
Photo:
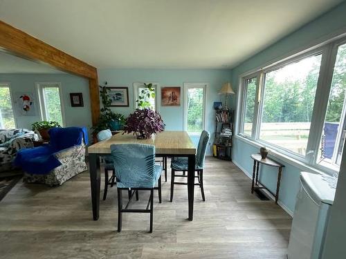
[[[327,113],[327,104],[329,100],[329,93],[331,88],[331,80],[334,73],[334,66],[336,61],[336,55],[338,47],[346,44],[345,34],[342,37],[336,37],[325,41],[324,44],[316,45],[313,48],[307,48],[301,52],[295,53],[289,57],[275,61],[272,64],[263,68],[257,68],[248,73],[239,75],[239,94],[237,96],[237,127],[235,137],[255,145],[255,146],[268,146],[273,150],[273,155],[286,160],[287,162],[294,162],[304,170],[312,169],[315,171],[323,171],[329,174],[338,173],[336,169],[322,166],[317,163],[318,150],[320,148],[320,138],[322,137],[323,125],[325,123],[325,115]],[[307,142],[307,149],[305,155],[299,155],[293,151],[289,151],[286,148],[282,148],[275,144],[271,144],[264,140],[260,140],[260,127],[262,123],[262,113],[264,107],[264,95],[265,95],[265,77],[266,73],[270,73],[273,70],[280,69],[289,64],[293,64],[304,58],[311,57],[313,55],[322,55],[320,63],[320,71],[318,75],[318,82],[316,86],[316,95],[313,104],[313,113],[311,116],[311,126],[309,132],[309,138]],[[244,117],[246,108],[246,80],[257,77],[257,90],[254,106],[254,118],[252,134],[247,135],[244,133]],[[256,109],[257,106],[257,109]],[[240,111],[240,112],[239,112]],[[340,143],[338,143],[340,144]]]

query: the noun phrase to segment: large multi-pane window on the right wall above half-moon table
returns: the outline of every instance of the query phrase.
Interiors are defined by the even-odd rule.
[[[239,135],[337,172],[346,135],[345,41],[242,77]]]

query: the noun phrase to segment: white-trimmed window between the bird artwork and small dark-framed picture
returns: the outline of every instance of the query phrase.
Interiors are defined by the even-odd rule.
[[[39,104],[42,119],[64,125],[62,93],[58,83],[38,83]]]

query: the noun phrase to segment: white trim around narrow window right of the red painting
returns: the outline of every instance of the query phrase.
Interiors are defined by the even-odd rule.
[[[188,88],[203,88],[203,131],[206,130],[206,100],[208,95],[208,89],[210,88],[209,83],[184,83],[183,84],[183,98],[184,98],[184,107],[183,107],[183,131],[188,131]],[[201,133],[188,133],[191,137],[199,137]]]

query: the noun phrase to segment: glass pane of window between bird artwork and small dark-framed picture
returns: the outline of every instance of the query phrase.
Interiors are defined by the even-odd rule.
[[[58,87],[44,88],[44,104],[46,105],[46,118],[48,121],[59,122],[62,126],[62,106]]]

